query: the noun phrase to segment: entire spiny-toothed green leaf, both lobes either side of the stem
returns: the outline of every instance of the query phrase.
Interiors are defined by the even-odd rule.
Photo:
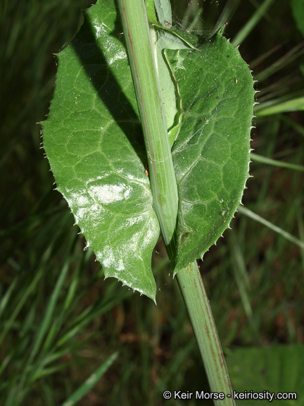
[[[115,4],[97,3],[84,20],[72,45],[58,55],[44,149],[57,189],[106,277],[155,299],[151,254],[159,228]],[[177,137],[176,273],[203,257],[239,205],[248,178],[254,90],[248,66],[221,33],[190,51],[175,32],[154,29],[171,142]]]

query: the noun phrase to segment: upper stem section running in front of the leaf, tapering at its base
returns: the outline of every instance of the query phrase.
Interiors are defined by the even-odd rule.
[[[118,0],[144,132],[153,208],[169,257],[174,252],[177,183],[143,0]]]

